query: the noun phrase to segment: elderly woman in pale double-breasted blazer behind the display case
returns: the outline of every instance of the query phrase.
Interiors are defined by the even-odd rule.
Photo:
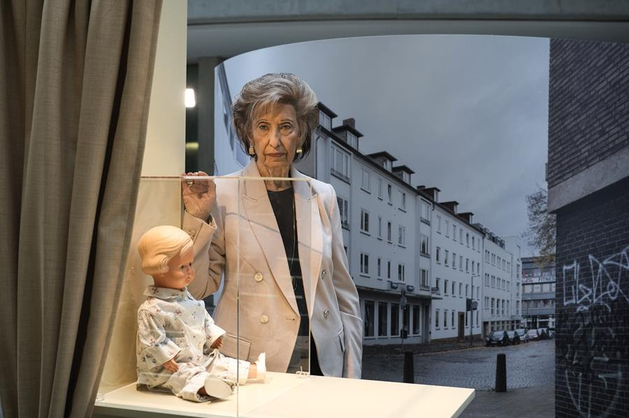
[[[317,98],[295,75],[267,74],[245,84],[232,110],[252,159],[231,175],[248,179],[182,182],[198,272],[189,290],[206,297],[224,277],[214,318],[226,355],[266,352],[269,371],[360,378],[362,320],[336,193],[292,167],[310,149]]]

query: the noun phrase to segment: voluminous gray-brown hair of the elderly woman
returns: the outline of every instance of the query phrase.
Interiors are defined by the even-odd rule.
[[[296,154],[296,159],[303,158],[310,151],[312,131],[319,123],[319,108],[315,92],[294,74],[270,73],[245,84],[231,107],[238,140],[247,152],[256,112],[265,111],[278,103],[295,108],[303,150],[301,154]]]

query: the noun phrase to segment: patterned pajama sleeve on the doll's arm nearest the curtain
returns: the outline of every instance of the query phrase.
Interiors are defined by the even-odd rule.
[[[166,337],[164,325],[150,311],[138,312],[138,344],[140,345],[139,368],[150,370],[175,357],[180,348]]]

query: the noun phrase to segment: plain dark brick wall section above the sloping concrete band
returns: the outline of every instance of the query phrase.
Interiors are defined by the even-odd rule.
[[[629,45],[551,39],[548,186],[629,145]]]

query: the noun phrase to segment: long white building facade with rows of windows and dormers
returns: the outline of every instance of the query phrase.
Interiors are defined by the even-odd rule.
[[[354,119],[333,127],[337,115],[321,103],[319,109],[312,150],[298,169],[337,193],[363,343],[400,343],[403,334],[406,343],[460,340],[470,329],[476,338],[509,329],[516,304],[504,241],[472,223],[470,212],[458,212],[458,202],[439,202],[438,188],[412,186],[414,172],[391,154],[362,154]],[[477,303],[471,318],[468,299]]]

